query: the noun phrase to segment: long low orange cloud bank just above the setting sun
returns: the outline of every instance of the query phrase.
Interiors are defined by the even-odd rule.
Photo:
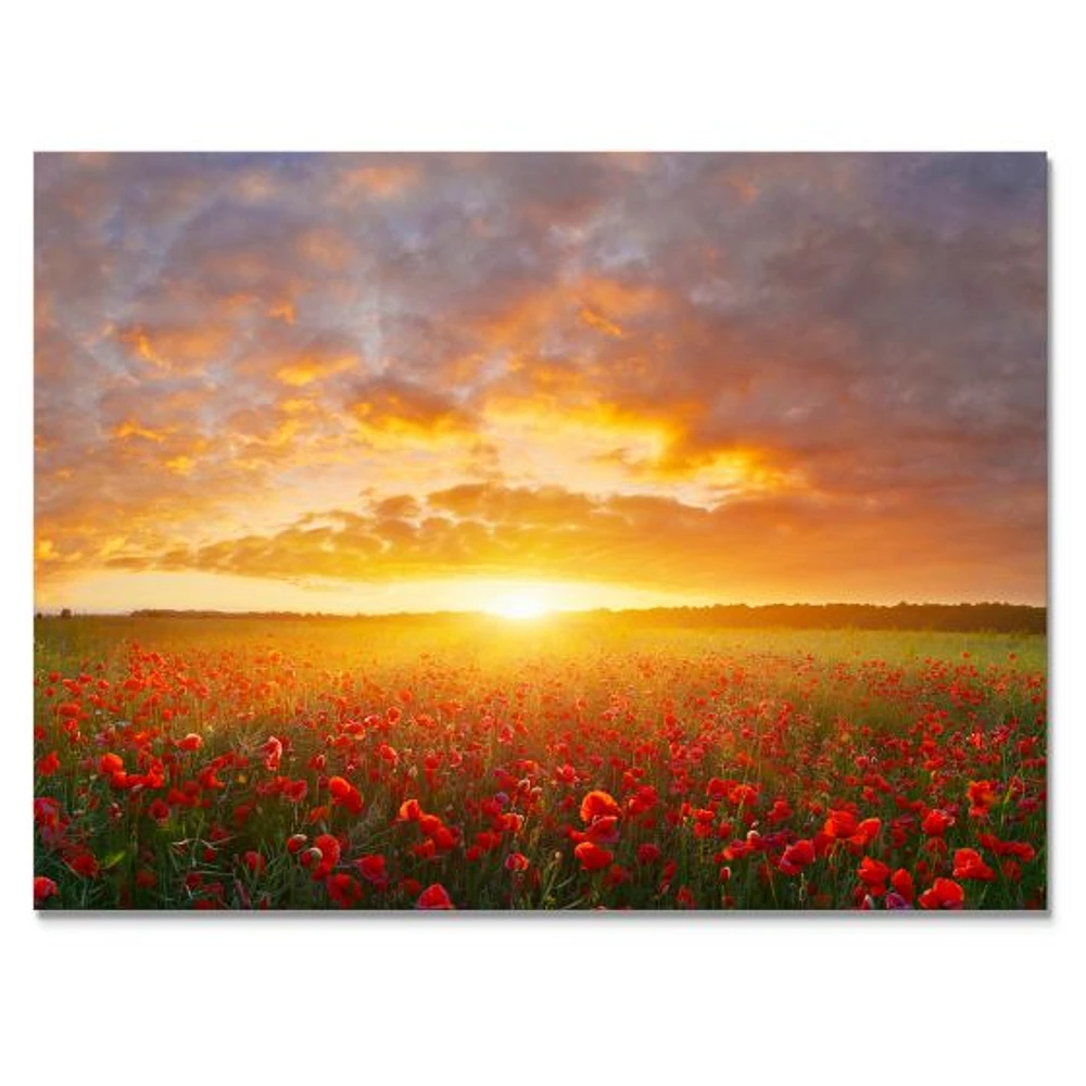
[[[1015,561],[1009,591],[1044,576],[1028,518],[974,523],[954,503],[937,520],[891,500],[856,506],[807,495],[705,509],[665,497],[591,498],[560,488],[464,484],[324,510],[278,532],[167,554],[118,555],[110,568],[195,570],[286,581],[529,577],[718,598],[893,599],[908,569],[925,596],[983,598],[983,580]],[[752,545],[756,544],[756,545]],[[923,561],[918,556],[937,554]]]

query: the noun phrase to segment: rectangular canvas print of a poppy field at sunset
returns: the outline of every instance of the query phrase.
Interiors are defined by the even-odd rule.
[[[1046,910],[1047,176],[36,155],[34,907]]]

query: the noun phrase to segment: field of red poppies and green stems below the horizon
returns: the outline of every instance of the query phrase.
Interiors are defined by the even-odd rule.
[[[43,910],[1047,908],[1036,635],[39,619]]]

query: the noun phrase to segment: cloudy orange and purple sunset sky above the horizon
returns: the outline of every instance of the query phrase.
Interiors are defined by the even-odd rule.
[[[1044,603],[1035,154],[40,154],[37,605]]]

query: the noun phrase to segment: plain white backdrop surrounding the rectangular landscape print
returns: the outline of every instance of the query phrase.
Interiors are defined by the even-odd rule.
[[[1066,1081],[1086,768],[1071,5],[108,3],[5,15],[0,1065],[159,1084]],[[33,150],[1047,150],[1049,918],[33,913]],[[1081,1059],[1077,1059],[1081,1064]],[[25,1069],[20,1070],[25,1063]]]

